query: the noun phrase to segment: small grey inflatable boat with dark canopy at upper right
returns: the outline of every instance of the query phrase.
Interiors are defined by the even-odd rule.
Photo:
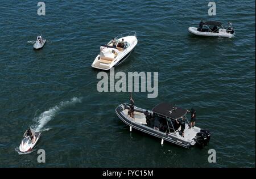
[[[224,28],[221,22],[216,21],[201,21],[199,28],[189,27],[188,31],[198,36],[234,37],[235,35],[232,23],[229,23],[229,26]]]

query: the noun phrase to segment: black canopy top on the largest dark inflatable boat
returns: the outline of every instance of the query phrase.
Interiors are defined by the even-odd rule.
[[[177,118],[183,117],[185,114],[187,114],[187,109],[177,108],[170,103],[158,104],[152,109],[152,111],[154,113],[169,117],[172,120],[176,120]]]

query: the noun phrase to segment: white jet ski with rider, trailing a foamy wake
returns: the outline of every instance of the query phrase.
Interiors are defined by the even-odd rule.
[[[31,130],[31,135],[28,134],[28,130]],[[19,145],[19,151],[20,152],[29,152],[31,151],[36,143],[38,142],[41,133],[37,133],[32,129],[28,129],[25,131],[24,135],[23,135],[23,139],[22,142]]]

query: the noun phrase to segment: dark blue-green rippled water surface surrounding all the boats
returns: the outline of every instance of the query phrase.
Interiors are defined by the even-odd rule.
[[[0,2],[0,167],[255,167],[255,1]],[[232,21],[233,39],[188,33],[201,19]],[[135,105],[161,101],[196,108],[209,146],[186,150],[129,127],[115,115],[129,93],[97,92],[90,67],[100,45],[136,31],[138,45],[117,71],[158,71],[159,94],[135,92]],[[34,51],[42,34],[47,43]],[[35,150],[16,152],[24,130],[42,131]],[[217,163],[208,163],[208,150]]]

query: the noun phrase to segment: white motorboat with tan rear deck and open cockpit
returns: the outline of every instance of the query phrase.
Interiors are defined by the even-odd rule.
[[[110,70],[129,57],[137,42],[136,32],[122,33],[109,41],[108,44],[100,46],[100,54],[94,59],[92,67]]]

